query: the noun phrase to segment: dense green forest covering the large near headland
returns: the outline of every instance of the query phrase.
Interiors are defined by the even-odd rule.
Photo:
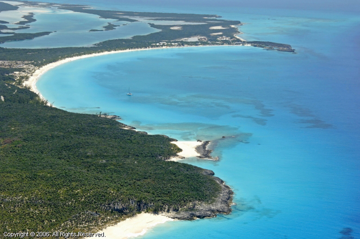
[[[45,106],[2,72],[0,231],[91,230],[219,192],[203,169],[163,160],[179,152],[172,139]]]

